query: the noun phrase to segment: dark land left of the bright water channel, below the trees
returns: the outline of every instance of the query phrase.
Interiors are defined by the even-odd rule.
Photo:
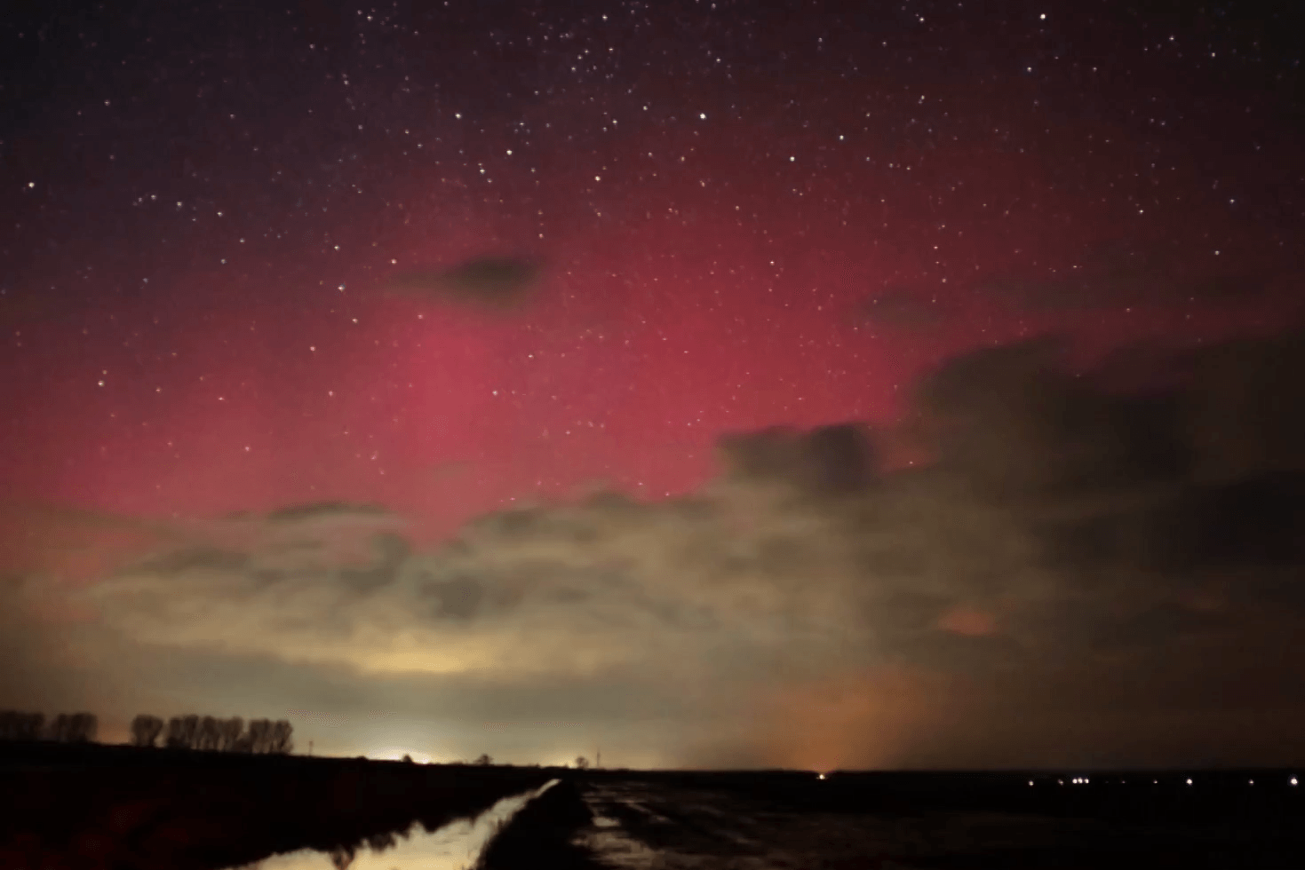
[[[317,849],[346,863],[539,788],[544,768],[129,746],[0,745],[0,869],[219,870]],[[324,867],[330,863],[324,861]]]

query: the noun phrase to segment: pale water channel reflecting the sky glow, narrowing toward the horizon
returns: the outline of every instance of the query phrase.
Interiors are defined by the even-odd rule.
[[[427,833],[414,824],[407,837],[380,837],[380,849],[360,845],[352,860],[347,854],[328,854],[300,849],[244,865],[239,870],[463,870],[475,865],[489,837],[534,797],[543,794],[557,780],[539,789],[505,797],[475,819],[458,819]]]

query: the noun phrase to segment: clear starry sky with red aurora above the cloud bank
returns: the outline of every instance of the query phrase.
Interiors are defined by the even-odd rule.
[[[81,7],[5,25],[0,481],[437,537],[923,370],[1296,317],[1300,57],[1095,5]],[[508,313],[403,270],[530,256]]]

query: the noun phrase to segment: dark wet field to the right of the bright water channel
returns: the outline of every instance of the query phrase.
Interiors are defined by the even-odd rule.
[[[1074,783],[1075,773],[599,771],[527,805],[483,861],[485,870],[1305,867],[1305,796],[1293,775],[1134,771]]]

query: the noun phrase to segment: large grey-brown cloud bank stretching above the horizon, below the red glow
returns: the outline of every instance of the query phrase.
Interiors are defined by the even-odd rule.
[[[853,423],[733,433],[684,497],[515,507],[428,549],[291,509],[68,601],[224,698],[389,703],[466,741],[472,713],[547,711],[662,763],[1285,763],[1257,721],[1302,712],[1300,353],[1181,353],[1135,394],[1054,338],[977,351],[914,391],[925,467]]]

